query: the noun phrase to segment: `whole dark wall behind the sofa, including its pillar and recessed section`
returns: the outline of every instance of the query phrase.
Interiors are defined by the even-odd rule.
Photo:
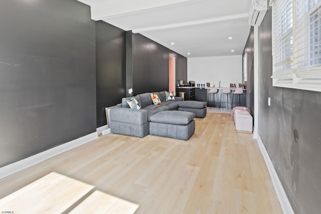
[[[122,97],[168,90],[170,54],[176,57],[176,77],[187,80],[186,57],[140,34],[96,22],[97,127],[107,124],[105,108]]]

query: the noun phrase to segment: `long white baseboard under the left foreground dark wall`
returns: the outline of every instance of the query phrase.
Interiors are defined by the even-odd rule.
[[[49,159],[50,157],[53,157],[57,154],[65,152],[69,149],[75,148],[75,147],[80,146],[84,143],[87,143],[91,140],[97,139],[97,138],[98,138],[98,133],[93,132],[91,134],[88,134],[83,137],[80,137],[75,140],[64,143],[62,145],[59,145],[54,148],[48,149],[46,151],[40,152],[40,153],[35,154],[33,156],[27,157],[23,160],[19,160],[17,162],[14,162],[14,163],[11,163],[11,164],[6,165],[4,167],[1,167],[0,168],[0,179],[7,177],[13,173],[18,172],[18,171],[21,171],[25,168],[28,168],[29,166],[35,165],[36,163],[39,163],[39,162],[44,161],[46,159]]]

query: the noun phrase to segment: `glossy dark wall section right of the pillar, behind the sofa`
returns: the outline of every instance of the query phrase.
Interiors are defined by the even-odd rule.
[[[170,54],[176,56],[176,77],[187,79],[187,58],[140,34],[132,35],[133,95],[168,90]]]

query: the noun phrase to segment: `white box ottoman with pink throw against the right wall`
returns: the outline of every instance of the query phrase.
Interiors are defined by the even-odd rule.
[[[237,132],[249,133],[253,131],[253,117],[248,111],[235,110],[234,122]]]

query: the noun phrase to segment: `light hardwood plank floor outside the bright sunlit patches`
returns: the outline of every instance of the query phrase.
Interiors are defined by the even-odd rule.
[[[139,204],[135,213],[282,213],[257,142],[226,113],[196,118],[188,141],[100,136],[1,179],[0,198],[53,171]]]

